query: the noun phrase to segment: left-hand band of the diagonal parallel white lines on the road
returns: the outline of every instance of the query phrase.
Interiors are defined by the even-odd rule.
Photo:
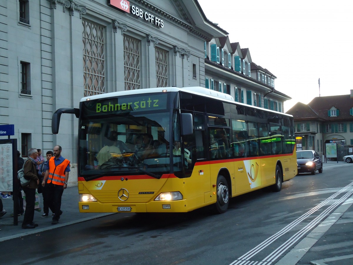
[[[275,240],[277,240],[279,237],[281,237],[282,235],[286,234],[288,231],[290,231],[291,229],[293,229],[296,225],[298,225],[299,223],[301,223],[303,220],[305,220],[307,217],[309,217],[312,213],[316,212],[317,210],[319,210],[320,208],[322,208],[323,206],[325,206],[326,204],[328,204],[328,202],[333,201],[333,199],[340,195],[341,193],[345,192],[346,189],[348,189],[349,187],[351,187],[353,185],[352,183],[349,183],[346,187],[343,187],[341,190],[339,190],[338,192],[336,192],[335,194],[331,195],[329,198],[327,198],[326,200],[324,200],[323,202],[321,202],[320,204],[318,204],[317,206],[315,206],[314,208],[312,208],[310,211],[306,212],[305,214],[303,214],[301,217],[299,217],[298,219],[294,220],[292,223],[288,224],[287,226],[285,226],[285,228],[283,228],[282,230],[280,230],[279,232],[277,232],[276,234],[270,236],[269,238],[267,238],[266,240],[264,240],[262,243],[260,243],[259,245],[257,245],[255,248],[251,249],[250,251],[248,251],[247,253],[245,253],[244,255],[242,255],[241,257],[239,257],[238,259],[234,260],[230,265],[245,265],[246,263],[244,263],[245,261],[249,261],[250,258],[252,258],[253,256],[255,256],[257,253],[259,253],[262,249],[264,249],[265,247],[269,246],[271,243],[273,243]],[[264,261],[264,260],[263,260]],[[265,263],[259,263],[258,265],[268,265],[271,264],[270,262],[266,262]]]

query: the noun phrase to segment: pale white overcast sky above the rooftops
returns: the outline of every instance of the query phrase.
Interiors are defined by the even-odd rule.
[[[347,95],[353,89],[353,1],[198,0],[206,17],[249,48],[252,61],[277,79],[275,88],[298,101]]]

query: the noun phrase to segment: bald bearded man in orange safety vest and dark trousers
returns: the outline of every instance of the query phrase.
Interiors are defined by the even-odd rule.
[[[70,172],[70,161],[61,156],[62,148],[59,145],[54,146],[54,157],[49,159],[49,169],[45,172],[42,186],[48,185],[49,200],[53,202],[54,216],[52,224],[57,224],[62,214],[61,196],[64,189],[67,188],[68,172]]]

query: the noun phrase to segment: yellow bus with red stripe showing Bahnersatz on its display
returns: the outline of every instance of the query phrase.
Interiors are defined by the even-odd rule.
[[[201,87],[82,98],[61,113],[78,126],[80,212],[189,212],[297,175],[293,117]]]

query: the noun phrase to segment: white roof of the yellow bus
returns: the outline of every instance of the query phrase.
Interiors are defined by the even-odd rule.
[[[110,98],[110,97],[117,97],[117,96],[126,96],[126,95],[138,95],[138,94],[146,94],[146,93],[158,93],[158,92],[187,92],[187,93],[192,93],[200,96],[206,96],[208,98],[217,98],[219,100],[227,101],[230,103],[236,103],[237,105],[243,105],[247,107],[252,107],[256,108],[258,110],[266,110],[269,112],[273,113],[280,113],[282,115],[288,116],[288,117],[293,117],[290,114],[286,114],[283,112],[278,112],[278,111],[273,111],[273,110],[268,110],[264,109],[261,107],[257,106],[252,106],[252,105],[247,105],[241,102],[235,102],[234,98],[231,95],[222,93],[222,92],[217,92],[216,90],[211,90],[208,88],[203,88],[203,87],[184,87],[184,88],[178,88],[178,87],[158,87],[158,88],[141,88],[141,89],[135,89],[135,90],[126,90],[126,91],[117,91],[117,92],[111,92],[111,93],[104,93],[104,94],[99,94],[99,95],[94,95],[94,96],[86,96],[80,100],[80,102],[84,102],[90,99],[104,99],[104,98]]]

